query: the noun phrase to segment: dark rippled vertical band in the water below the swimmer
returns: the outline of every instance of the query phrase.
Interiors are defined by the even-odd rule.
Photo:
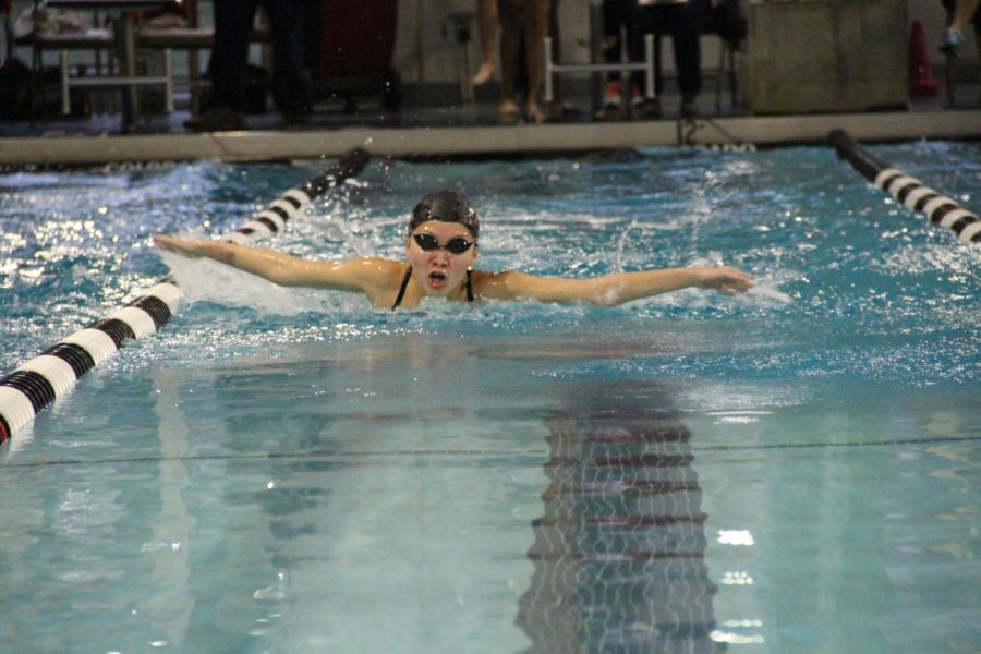
[[[720,652],[717,589],[704,562],[705,513],[690,432],[637,405],[549,421],[544,514],[519,601],[529,652]],[[616,403],[616,402],[614,402]]]

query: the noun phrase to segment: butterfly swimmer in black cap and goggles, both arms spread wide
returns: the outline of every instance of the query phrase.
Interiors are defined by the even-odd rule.
[[[264,247],[162,234],[155,235],[154,242],[161,250],[209,257],[279,286],[363,293],[375,307],[392,311],[419,306],[426,298],[616,306],[687,288],[735,295],[753,287],[752,275],[727,266],[617,272],[586,279],[477,270],[480,225],[470,201],[452,191],[437,191],[412,210],[402,262],[379,257],[316,262]]]

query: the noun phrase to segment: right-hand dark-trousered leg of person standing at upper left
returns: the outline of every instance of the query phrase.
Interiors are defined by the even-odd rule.
[[[301,0],[262,0],[272,37],[272,98],[291,120],[310,111],[311,90],[303,68]]]

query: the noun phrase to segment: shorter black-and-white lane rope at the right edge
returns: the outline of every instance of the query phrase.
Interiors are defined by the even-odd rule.
[[[956,202],[879,159],[855,142],[844,130],[834,130],[827,140],[838,157],[851,164],[862,177],[889,193],[910,211],[923,214],[930,221],[954,230],[968,243],[981,243],[981,219]]]

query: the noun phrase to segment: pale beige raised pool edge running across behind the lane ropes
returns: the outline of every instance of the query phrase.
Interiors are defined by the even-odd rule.
[[[265,161],[337,157],[353,147],[389,157],[560,155],[638,146],[823,143],[835,129],[863,142],[981,137],[981,110],[828,113],[455,128],[342,128],[209,134],[46,135],[0,138],[0,166],[143,161]]]

